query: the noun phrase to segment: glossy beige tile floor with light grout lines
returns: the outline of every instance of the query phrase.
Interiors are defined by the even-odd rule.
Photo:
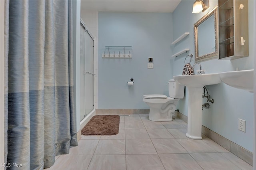
[[[252,166],[202,135],[185,136],[180,119],[153,122],[148,115],[120,116],[119,133],[83,136],[48,170],[252,170]]]

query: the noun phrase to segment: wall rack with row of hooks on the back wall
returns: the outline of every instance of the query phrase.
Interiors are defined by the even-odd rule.
[[[105,46],[102,58],[132,58],[132,46]]]

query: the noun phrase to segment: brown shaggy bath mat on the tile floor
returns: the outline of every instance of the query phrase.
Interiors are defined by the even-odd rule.
[[[96,115],[82,128],[82,135],[114,135],[119,132],[118,115]]]

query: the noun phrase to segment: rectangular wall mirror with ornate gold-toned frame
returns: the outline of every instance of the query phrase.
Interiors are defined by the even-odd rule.
[[[194,24],[195,61],[218,57],[217,7]]]

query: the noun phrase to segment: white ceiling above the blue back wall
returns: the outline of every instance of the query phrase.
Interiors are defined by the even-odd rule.
[[[181,0],[81,0],[81,10],[101,12],[173,12]]]

